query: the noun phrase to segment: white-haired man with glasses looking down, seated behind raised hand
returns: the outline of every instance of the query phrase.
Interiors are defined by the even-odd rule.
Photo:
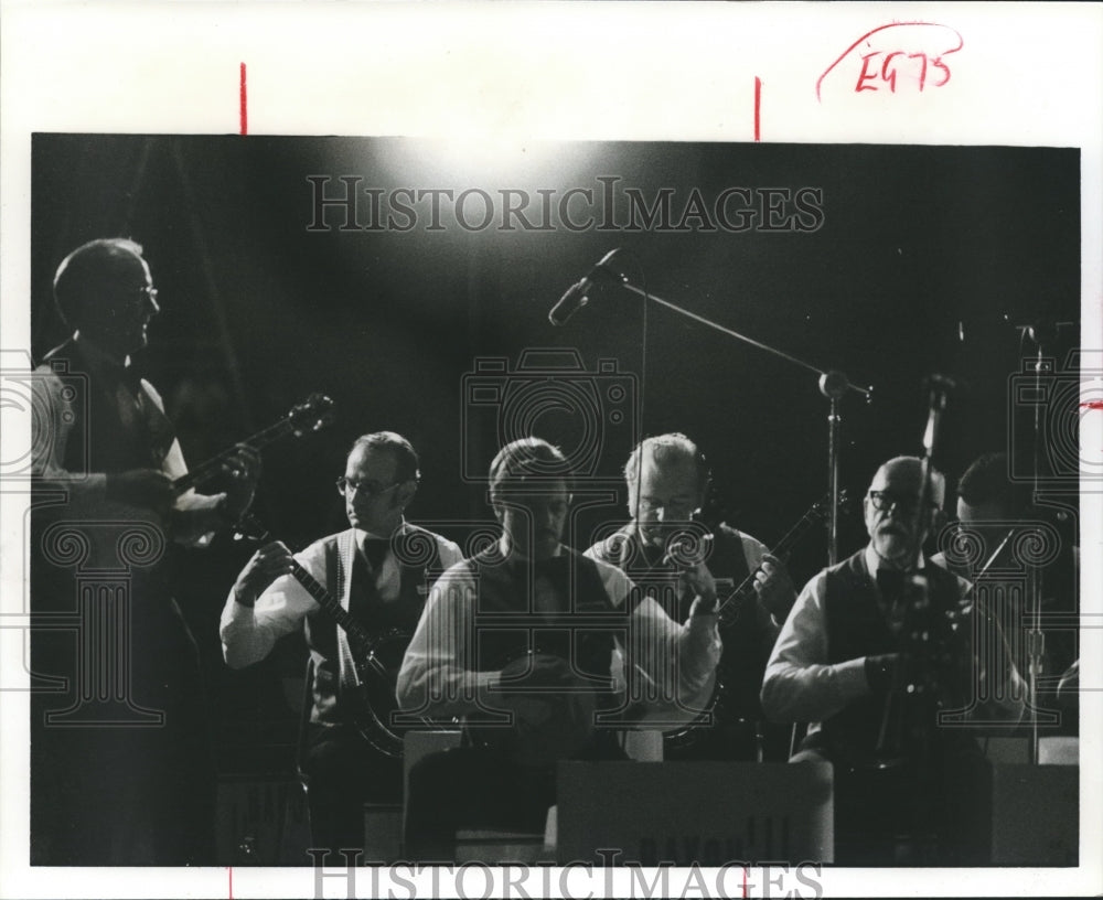
[[[796,599],[785,566],[761,542],[727,524],[705,533],[692,522],[705,502],[709,472],[704,454],[685,435],[641,441],[624,465],[624,481],[632,521],[586,555],[658,589],[673,619],[684,622],[689,613],[695,593],[690,577],[724,594],[722,601],[754,575],[753,601],[725,610],[724,657],[717,669],[722,699],[710,710],[713,724],[670,732],[664,759],[788,759],[792,729],[768,725],[759,701],[780,623]],[[696,545],[694,553],[681,553],[683,537]]]

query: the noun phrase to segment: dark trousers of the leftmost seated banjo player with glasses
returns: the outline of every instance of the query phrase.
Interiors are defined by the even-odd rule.
[[[364,846],[364,803],[403,802],[403,763],[383,756],[347,725],[312,725],[302,760],[309,779],[311,845]]]

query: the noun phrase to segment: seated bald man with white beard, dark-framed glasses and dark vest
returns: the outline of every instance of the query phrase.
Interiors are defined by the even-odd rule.
[[[794,762],[835,771],[835,861],[981,865],[988,851],[988,769],[971,717],[1016,721],[1014,678],[974,666],[968,583],[929,565],[923,542],[945,481],[897,457],[877,470],[864,512],[869,544],[801,592],[767,666],[762,705],[778,721],[810,721]],[[977,679],[977,681],[974,681]],[[988,696],[977,701],[978,696]],[[945,722],[943,722],[944,725]]]

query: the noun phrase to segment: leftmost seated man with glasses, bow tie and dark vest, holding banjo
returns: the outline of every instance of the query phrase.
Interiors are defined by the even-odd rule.
[[[293,557],[373,635],[413,634],[432,579],[463,556],[451,540],[406,521],[419,479],[406,438],[357,438],[336,482],[351,527]],[[223,610],[223,654],[240,668],[265,658],[280,638],[304,632],[313,704],[300,767],[313,846],[363,847],[363,803],[400,802],[401,759],[379,752],[354,726],[362,710],[349,638],[293,577],[291,561],[277,540],[246,564]]]

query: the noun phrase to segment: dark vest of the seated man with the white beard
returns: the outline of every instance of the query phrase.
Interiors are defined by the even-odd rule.
[[[859,550],[825,575],[824,614],[827,663],[831,665],[903,650],[902,638],[893,635],[886,622],[877,588],[866,571],[864,555],[865,549]],[[943,612],[951,609],[960,593],[957,579],[952,572],[931,564],[924,571],[931,583],[932,609]],[[939,613],[934,613],[932,620],[940,620]],[[895,707],[896,710],[902,708],[900,704]],[[866,761],[877,747],[884,712],[882,696],[861,697],[824,721],[821,735],[813,737],[826,742],[825,749],[836,761]],[[940,744],[967,739],[967,736],[938,728],[935,714],[930,704],[924,705],[920,714],[921,720],[930,719],[928,737],[936,739]]]

